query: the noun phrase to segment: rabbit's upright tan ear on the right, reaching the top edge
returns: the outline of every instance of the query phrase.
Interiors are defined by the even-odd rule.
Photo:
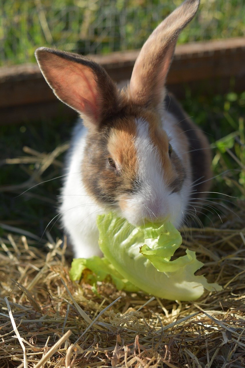
[[[186,0],[157,26],[143,45],[129,85],[134,103],[157,107],[164,99],[164,84],[173,59],[177,38],[192,20],[200,0]]]

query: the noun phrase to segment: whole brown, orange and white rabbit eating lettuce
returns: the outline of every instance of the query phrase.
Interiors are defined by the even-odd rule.
[[[76,257],[100,255],[98,213],[179,228],[209,187],[208,142],[164,87],[178,35],[198,6],[186,0],[159,24],[122,91],[85,56],[36,50],[47,83],[83,122],[74,130],[60,206]]]

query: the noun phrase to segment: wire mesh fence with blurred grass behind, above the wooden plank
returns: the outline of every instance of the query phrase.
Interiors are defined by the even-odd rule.
[[[0,0],[0,65],[39,46],[82,54],[140,48],[182,0]],[[243,36],[245,0],[203,0],[179,43]]]

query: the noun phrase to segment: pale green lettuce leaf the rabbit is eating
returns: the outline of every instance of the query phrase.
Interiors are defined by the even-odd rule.
[[[104,258],[78,258],[72,262],[70,276],[79,280],[85,269],[93,272],[93,282],[111,277],[118,290],[145,291],[169,300],[195,300],[204,289],[221,290],[205,277],[195,276],[203,263],[193,251],[171,261],[180,247],[180,233],[170,223],[133,227],[112,213],[97,217],[99,247]],[[96,275],[96,276],[95,276]]]

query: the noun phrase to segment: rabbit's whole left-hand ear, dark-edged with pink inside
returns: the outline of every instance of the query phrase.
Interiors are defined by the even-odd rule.
[[[54,94],[77,110],[87,127],[99,127],[115,113],[116,85],[102,66],[85,56],[46,47],[37,49],[35,56]]]

